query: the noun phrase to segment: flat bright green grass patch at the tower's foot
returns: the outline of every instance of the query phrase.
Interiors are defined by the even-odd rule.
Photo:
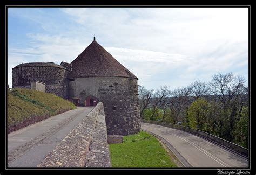
[[[112,167],[176,167],[156,137],[145,131],[109,144]]]

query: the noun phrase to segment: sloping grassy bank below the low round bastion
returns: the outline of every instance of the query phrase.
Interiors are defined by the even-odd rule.
[[[76,109],[76,106],[56,95],[16,88],[8,92],[8,127],[32,118],[37,121],[35,117],[49,117],[70,109]]]

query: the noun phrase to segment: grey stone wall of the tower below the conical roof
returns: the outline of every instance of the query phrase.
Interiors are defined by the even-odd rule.
[[[104,103],[107,135],[131,135],[140,131],[137,79],[132,77],[76,78],[69,83],[69,98],[84,101],[88,95]]]

